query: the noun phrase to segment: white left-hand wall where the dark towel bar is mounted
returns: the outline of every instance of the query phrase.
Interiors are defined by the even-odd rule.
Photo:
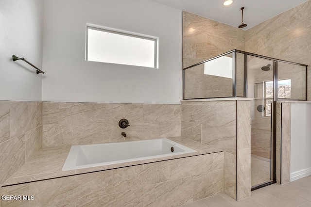
[[[12,55],[42,68],[42,0],[0,0],[0,100],[41,101],[42,76]]]

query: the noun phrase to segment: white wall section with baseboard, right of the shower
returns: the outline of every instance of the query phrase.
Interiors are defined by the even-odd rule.
[[[291,181],[311,175],[311,103],[292,103]]]

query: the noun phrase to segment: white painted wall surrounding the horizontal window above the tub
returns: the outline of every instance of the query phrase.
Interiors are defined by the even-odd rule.
[[[86,23],[159,38],[159,68],[85,61]],[[150,0],[44,0],[43,101],[181,100],[182,11]]]

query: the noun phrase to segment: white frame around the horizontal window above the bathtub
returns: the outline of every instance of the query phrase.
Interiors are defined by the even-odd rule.
[[[141,66],[141,65],[133,65],[133,64],[122,64],[122,65],[131,65],[131,66],[138,66],[138,67],[148,67],[148,68],[158,68],[158,37],[153,37],[153,36],[147,36],[143,34],[138,34],[134,32],[127,32],[127,31],[121,31],[113,28],[107,28],[107,27],[99,27],[95,25],[88,25],[86,24],[86,61],[88,60],[88,30],[97,30],[101,32],[109,32],[113,34],[119,34],[119,35],[124,35],[124,36],[129,36],[129,37],[135,37],[139,39],[146,39],[146,40],[152,40],[155,43],[155,51],[154,51],[154,66],[153,67],[148,67],[148,66]],[[100,62],[100,61],[91,61],[91,62],[99,62],[99,63],[108,63],[108,62]],[[121,64],[121,63],[109,63],[109,64]]]

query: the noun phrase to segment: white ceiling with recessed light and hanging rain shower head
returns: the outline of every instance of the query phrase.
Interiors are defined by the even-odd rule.
[[[224,6],[224,0],[153,0],[196,15],[214,19],[234,27],[241,24],[241,7],[244,7],[244,23],[247,30],[281,14],[307,0],[234,0]]]

